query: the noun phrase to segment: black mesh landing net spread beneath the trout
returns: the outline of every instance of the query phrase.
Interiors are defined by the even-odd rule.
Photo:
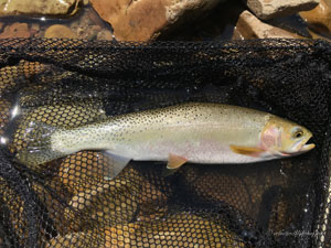
[[[0,247],[330,247],[331,46],[322,41],[0,41]],[[31,121],[79,127],[184,101],[293,120],[317,148],[256,164],[131,161],[103,151],[15,161]]]

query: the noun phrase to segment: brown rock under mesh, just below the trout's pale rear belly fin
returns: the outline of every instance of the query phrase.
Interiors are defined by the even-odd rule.
[[[139,185],[125,180],[85,184],[68,202],[65,216],[72,229],[129,223],[138,209]]]

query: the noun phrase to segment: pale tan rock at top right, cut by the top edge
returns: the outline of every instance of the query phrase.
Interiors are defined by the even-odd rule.
[[[263,20],[311,10],[320,0],[243,0],[252,12]]]

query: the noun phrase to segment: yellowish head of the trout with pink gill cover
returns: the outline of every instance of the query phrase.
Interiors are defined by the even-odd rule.
[[[261,132],[261,148],[276,157],[298,155],[316,145],[307,143],[312,133],[305,127],[278,117],[268,117]]]

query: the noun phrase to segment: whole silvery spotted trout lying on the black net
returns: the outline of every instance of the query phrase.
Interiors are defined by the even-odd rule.
[[[38,165],[82,150],[106,150],[115,161],[114,177],[130,160],[168,161],[174,170],[185,162],[252,163],[298,155],[314,148],[307,144],[311,137],[305,127],[267,112],[189,103],[73,129],[31,123],[26,150],[17,159]]]

